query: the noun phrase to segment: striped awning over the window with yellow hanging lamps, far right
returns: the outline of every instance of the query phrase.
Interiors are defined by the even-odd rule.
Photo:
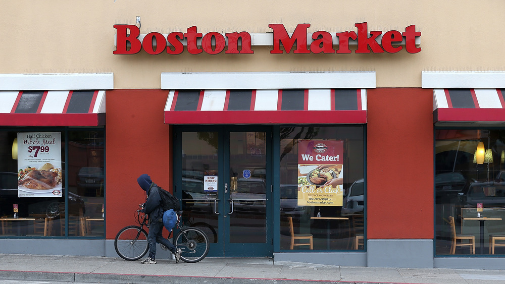
[[[505,123],[505,89],[434,89],[435,123]]]

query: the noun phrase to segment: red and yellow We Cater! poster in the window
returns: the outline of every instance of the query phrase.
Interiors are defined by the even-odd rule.
[[[298,141],[298,205],[342,206],[343,141]]]

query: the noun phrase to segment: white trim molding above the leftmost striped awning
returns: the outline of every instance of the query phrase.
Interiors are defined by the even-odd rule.
[[[114,73],[0,74],[0,91],[111,89]]]

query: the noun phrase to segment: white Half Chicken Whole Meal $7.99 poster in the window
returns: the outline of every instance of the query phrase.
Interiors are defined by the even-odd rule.
[[[18,197],[62,196],[61,132],[18,133]]]

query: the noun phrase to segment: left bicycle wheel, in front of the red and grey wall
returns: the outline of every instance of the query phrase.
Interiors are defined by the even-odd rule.
[[[140,235],[135,240],[139,231]],[[140,229],[140,226],[126,226],[116,235],[114,247],[118,255],[125,260],[140,259],[149,251],[147,233],[144,229]]]

